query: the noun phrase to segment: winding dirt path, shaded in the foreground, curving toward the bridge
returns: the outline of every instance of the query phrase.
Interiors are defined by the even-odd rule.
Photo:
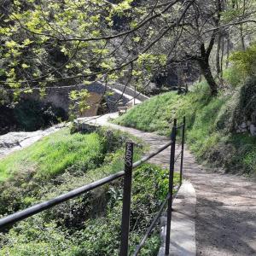
[[[96,123],[142,138],[150,146],[150,151],[168,140],[154,133],[109,124],[108,117],[114,118],[115,114],[96,119]],[[152,162],[168,166],[169,154],[170,150],[165,150]],[[176,168],[178,166],[179,163]],[[245,177],[213,172],[199,166],[188,149],[184,152],[184,177],[196,190],[197,255],[256,255],[256,183]]]

